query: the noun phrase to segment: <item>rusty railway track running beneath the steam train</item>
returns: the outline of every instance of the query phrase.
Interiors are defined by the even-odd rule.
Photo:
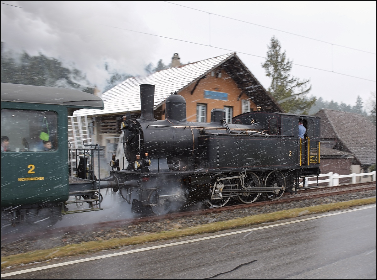
[[[62,234],[74,234],[80,231],[88,231],[88,230],[103,230],[109,228],[118,228],[125,225],[134,225],[140,224],[143,222],[155,222],[161,221],[163,219],[176,219],[176,218],[189,218],[192,216],[198,215],[205,215],[208,213],[215,213],[215,212],[224,212],[229,210],[237,210],[237,209],[244,209],[249,207],[258,207],[264,205],[275,205],[281,203],[288,203],[291,201],[300,201],[305,199],[314,199],[314,198],[322,198],[326,196],[335,196],[335,195],[342,195],[345,193],[353,193],[353,192],[364,192],[368,190],[375,190],[376,183],[375,182],[368,182],[368,183],[356,183],[356,184],[343,184],[339,186],[333,187],[311,187],[310,189],[305,190],[297,190],[297,193],[286,193],[280,198],[279,200],[268,200],[268,201],[257,201],[251,204],[234,204],[228,205],[221,208],[201,208],[195,210],[188,210],[184,212],[177,212],[171,213],[162,216],[138,216],[133,219],[121,219],[115,221],[106,221],[106,222],[98,222],[95,224],[86,224],[80,226],[71,226],[71,227],[64,227],[64,228],[52,228],[49,230],[43,230],[43,236],[53,237]],[[15,240],[32,240],[35,238],[40,238],[41,231],[34,230],[28,233],[12,233],[12,234],[2,234],[2,242],[14,242]]]

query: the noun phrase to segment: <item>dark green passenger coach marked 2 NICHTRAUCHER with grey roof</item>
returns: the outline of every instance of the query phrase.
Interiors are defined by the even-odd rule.
[[[103,109],[103,101],[78,90],[5,83],[1,100],[2,218],[35,222],[47,209],[57,221],[69,196],[68,116]]]

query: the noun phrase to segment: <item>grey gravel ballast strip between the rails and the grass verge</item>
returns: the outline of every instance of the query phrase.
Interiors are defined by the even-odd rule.
[[[137,236],[146,233],[174,230],[176,228],[194,227],[211,222],[227,221],[246,216],[277,212],[281,210],[309,207],[333,202],[349,201],[352,199],[375,197],[375,190],[364,192],[346,193],[343,195],[327,196],[323,198],[305,199],[300,201],[283,202],[277,204],[247,207],[236,210],[208,213],[190,217],[161,219],[153,222],[140,222],[138,224],[125,224],[117,228],[103,230],[85,230],[75,233],[65,233],[54,237],[23,239],[10,243],[2,242],[2,256],[26,253],[33,250],[50,249],[69,244],[77,244],[87,241],[108,240],[128,236]]]

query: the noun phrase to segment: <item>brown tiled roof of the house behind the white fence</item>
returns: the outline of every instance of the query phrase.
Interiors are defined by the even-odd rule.
[[[331,129],[321,130],[321,138],[336,138],[355,155],[361,165],[375,163],[376,126],[360,114],[322,109],[316,116],[325,116]],[[321,126],[322,120],[321,119]]]

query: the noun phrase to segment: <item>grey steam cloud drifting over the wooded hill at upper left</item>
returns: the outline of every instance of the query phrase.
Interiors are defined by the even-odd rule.
[[[14,52],[42,53],[75,67],[100,89],[110,73],[143,75],[157,39],[143,42],[136,13],[127,2],[7,1],[1,5],[1,40]],[[10,6],[14,5],[14,6]],[[75,64],[73,64],[75,63]],[[108,71],[105,63],[109,65]]]

